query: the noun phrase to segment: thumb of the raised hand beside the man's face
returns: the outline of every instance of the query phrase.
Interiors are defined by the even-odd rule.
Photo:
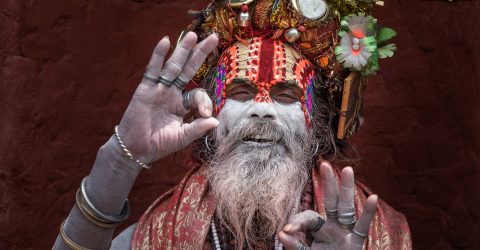
[[[179,130],[179,139],[182,147],[192,143],[195,139],[205,135],[210,129],[218,126],[218,120],[210,118],[198,118],[192,123],[184,123]]]

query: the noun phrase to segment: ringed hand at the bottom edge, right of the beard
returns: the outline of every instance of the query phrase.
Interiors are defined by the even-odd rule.
[[[314,241],[311,249],[362,249],[368,235],[370,223],[377,208],[377,196],[368,197],[360,219],[355,223],[353,170],[346,167],[341,173],[340,187],[337,185],[331,166],[322,163],[321,175],[324,188],[324,205],[327,219],[319,217],[314,211],[304,211],[289,219],[279,232],[279,240],[287,250],[308,249],[297,233],[311,232]]]

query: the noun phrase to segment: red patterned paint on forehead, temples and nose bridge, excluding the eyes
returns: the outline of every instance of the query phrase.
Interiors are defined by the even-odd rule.
[[[309,118],[312,96],[309,84],[315,75],[313,64],[293,47],[282,41],[253,38],[248,44],[237,42],[226,49],[218,64],[215,110],[220,112],[225,101],[225,89],[233,79],[247,79],[258,92],[255,102],[272,102],[270,89],[279,82],[295,82],[303,90],[302,108]],[[307,103],[310,102],[310,103]],[[308,120],[308,119],[307,119]]]

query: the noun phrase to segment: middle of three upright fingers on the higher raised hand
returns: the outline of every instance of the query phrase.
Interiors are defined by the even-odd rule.
[[[165,63],[165,68],[160,75],[173,81],[182,73],[183,67],[187,62],[188,56],[193,47],[197,44],[197,35],[194,32],[188,32],[183,40],[178,44],[172,56]]]

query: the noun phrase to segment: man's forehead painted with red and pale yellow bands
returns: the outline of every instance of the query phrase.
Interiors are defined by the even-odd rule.
[[[225,69],[225,84],[246,79],[257,87],[278,82],[295,82],[305,89],[314,67],[293,47],[279,40],[252,38],[237,42],[222,54],[219,65]]]

